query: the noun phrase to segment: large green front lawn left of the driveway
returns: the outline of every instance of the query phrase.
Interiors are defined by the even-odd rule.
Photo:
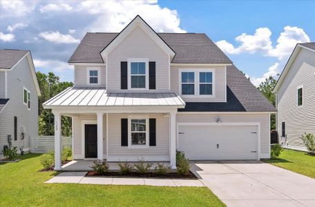
[[[44,184],[39,155],[0,163],[0,206],[225,206],[208,188]]]

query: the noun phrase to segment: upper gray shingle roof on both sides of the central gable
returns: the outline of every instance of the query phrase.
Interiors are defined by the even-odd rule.
[[[69,63],[104,63],[100,52],[119,33],[86,33]],[[176,53],[172,63],[232,63],[207,34],[157,33]]]

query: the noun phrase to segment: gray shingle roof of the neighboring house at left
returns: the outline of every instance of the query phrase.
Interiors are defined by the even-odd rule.
[[[29,50],[0,50],[0,68],[11,69]]]

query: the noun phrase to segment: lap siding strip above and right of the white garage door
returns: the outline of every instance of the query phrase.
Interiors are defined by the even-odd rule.
[[[201,123],[216,123],[218,116],[221,117],[223,123],[227,122],[248,122],[260,123],[260,154],[269,155],[269,115],[263,114],[211,114],[211,115],[177,115],[177,122],[201,122]]]

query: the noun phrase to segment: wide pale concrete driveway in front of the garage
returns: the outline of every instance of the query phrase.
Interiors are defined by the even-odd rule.
[[[261,161],[195,161],[191,168],[227,206],[315,206],[315,179]]]

